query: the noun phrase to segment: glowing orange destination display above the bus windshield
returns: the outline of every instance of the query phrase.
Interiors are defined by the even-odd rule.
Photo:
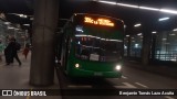
[[[90,16],[84,18],[85,23],[91,23],[91,24],[97,24],[97,25],[107,25],[107,26],[114,26],[114,23],[111,20],[98,18],[97,20],[94,20]]]

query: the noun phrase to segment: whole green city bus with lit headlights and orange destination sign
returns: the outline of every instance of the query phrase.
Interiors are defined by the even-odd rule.
[[[56,56],[70,77],[121,77],[124,22],[119,19],[75,13],[60,34]],[[60,40],[58,38],[58,40]]]

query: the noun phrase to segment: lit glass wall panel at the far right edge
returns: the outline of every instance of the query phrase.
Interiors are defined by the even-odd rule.
[[[160,32],[156,41],[155,58],[177,62],[177,31]]]

